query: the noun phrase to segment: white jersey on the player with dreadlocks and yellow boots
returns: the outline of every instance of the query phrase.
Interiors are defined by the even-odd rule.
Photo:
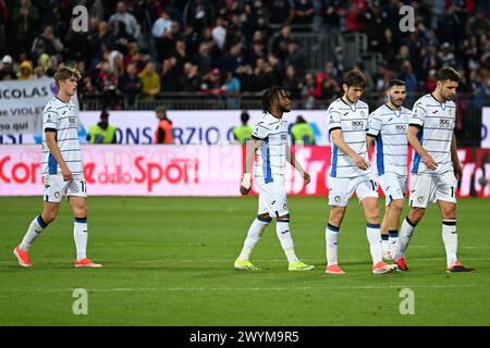
[[[265,113],[254,126],[252,136],[262,140],[257,149],[254,178],[257,183],[284,183],[286,162],[287,121]]]

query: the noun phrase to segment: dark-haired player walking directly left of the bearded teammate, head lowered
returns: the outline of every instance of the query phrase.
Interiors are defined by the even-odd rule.
[[[326,228],[327,269],[329,274],[343,274],[338,262],[339,232],[348,199],[356,192],[367,222],[367,238],[372,258],[372,273],[383,274],[393,265],[382,260],[379,225],[378,184],[372,173],[366,149],[368,105],[360,100],[366,76],[352,70],[344,76],[344,96],[333,101],[327,110],[328,128],[332,142],[329,176],[330,217]]]

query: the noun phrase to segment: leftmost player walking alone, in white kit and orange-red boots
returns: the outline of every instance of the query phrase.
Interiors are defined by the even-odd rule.
[[[73,210],[76,268],[100,268],[86,256],[87,184],[84,178],[78,142],[78,112],[70,101],[81,78],[77,70],[60,66],[54,73],[59,88],[42,111],[42,176],[45,181],[44,209],[30,223],[14,254],[22,266],[32,266],[29,250],[34,240],[57,217],[60,202],[66,197]]]

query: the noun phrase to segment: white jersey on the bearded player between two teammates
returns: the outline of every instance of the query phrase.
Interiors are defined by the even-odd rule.
[[[367,134],[376,138],[376,165],[378,175],[394,173],[407,175],[408,140],[406,130],[411,110],[400,111],[382,104],[369,115]]]

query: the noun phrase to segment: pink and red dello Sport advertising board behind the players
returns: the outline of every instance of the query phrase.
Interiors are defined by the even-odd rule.
[[[84,173],[89,196],[240,196],[243,148],[238,145],[85,145]],[[287,165],[289,195],[328,194],[331,150],[295,147],[311,183]],[[41,196],[41,150],[38,145],[0,147],[0,196]],[[490,198],[490,149],[460,149],[463,177],[458,197]],[[371,159],[376,170],[376,161]],[[253,184],[252,192],[257,192]]]

